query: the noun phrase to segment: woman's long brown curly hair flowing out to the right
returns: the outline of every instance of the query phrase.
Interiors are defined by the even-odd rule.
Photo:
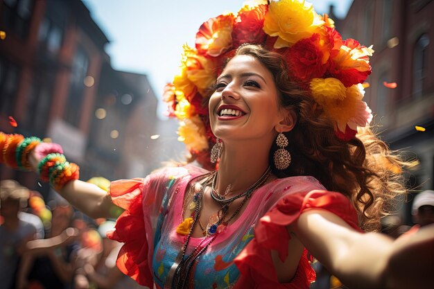
[[[370,128],[358,130],[350,141],[336,137],[333,123],[306,90],[290,80],[286,62],[277,52],[259,45],[240,46],[235,55],[252,55],[275,77],[279,102],[293,110],[297,124],[286,132],[292,161],[286,170],[277,170],[272,161],[277,150],[270,150],[270,166],[277,177],[311,175],[329,191],[346,195],[359,212],[365,230],[377,230],[380,217],[389,212],[397,195],[406,193],[401,167],[406,163],[381,141]]]

